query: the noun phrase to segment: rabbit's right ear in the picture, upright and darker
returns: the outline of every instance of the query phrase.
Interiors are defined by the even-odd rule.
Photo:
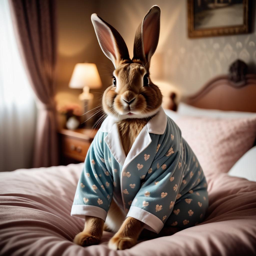
[[[160,14],[159,6],[152,6],[136,30],[133,59],[140,59],[144,64],[150,62],[158,44]]]

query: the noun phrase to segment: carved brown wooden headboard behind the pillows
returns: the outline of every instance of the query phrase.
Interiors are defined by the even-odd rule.
[[[256,75],[246,72],[246,64],[237,60],[229,75],[211,79],[195,95],[181,101],[204,109],[256,112]]]

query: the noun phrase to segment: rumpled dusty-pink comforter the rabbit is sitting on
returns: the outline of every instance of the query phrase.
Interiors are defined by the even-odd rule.
[[[0,173],[0,255],[255,255],[256,183],[225,173],[208,176],[205,221],[173,236],[111,251],[72,243],[83,220],[70,209],[82,164]]]

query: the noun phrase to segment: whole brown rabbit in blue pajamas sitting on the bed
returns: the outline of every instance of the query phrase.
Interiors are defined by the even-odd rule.
[[[113,72],[113,84],[104,91],[102,97],[103,110],[112,118],[111,120],[114,121],[111,123],[109,120],[106,121],[106,118],[103,124],[105,127],[112,127],[113,125],[113,127],[116,127],[115,129],[118,134],[113,132],[115,131],[114,128],[109,128],[108,133],[102,132],[95,136],[93,141],[94,145],[91,145],[91,151],[87,154],[84,172],[81,175],[77,188],[76,197],[79,198],[78,200],[80,201],[77,202],[75,201],[76,199],[74,199],[75,205],[72,206],[71,210],[71,215],[77,217],[85,215],[84,230],[78,233],[74,238],[74,243],[78,245],[89,246],[98,244],[104,229],[115,232],[108,243],[109,248],[123,250],[131,248],[137,243],[137,239],[140,234],[142,234],[144,228],[151,230],[146,231],[146,234],[159,233],[161,229],[164,230],[164,223],[169,221],[167,234],[172,234],[180,230],[180,227],[184,228],[185,225],[194,225],[197,221],[196,218],[194,222],[191,218],[189,220],[182,220],[182,223],[180,223],[179,220],[174,221],[176,220],[175,218],[178,218],[179,211],[182,210],[181,207],[180,209],[174,210],[172,214],[171,211],[174,209],[176,202],[181,202],[181,199],[186,198],[188,195],[191,195],[190,197],[193,198],[189,200],[197,202],[191,190],[191,188],[193,189],[196,186],[201,196],[206,198],[206,202],[202,203],[199,207],[200,209],[198,209],[201,213],[200,216],[205,214],[208,204],[207,185],[205,185],[206,181],[201,167],[194,154],[190,153],[190,156],[187,157],[191,162],[189,166],[191,169],[192,167],[197,168],[198,174],[193,173],[193,175],[197,181],[200,180],[199,183],[201,185],[195,181],[193,186],[190,185],[186,187],[183,180],[189,177],[189,168],[184,164],[184,152],[188,152],[190,149],[186,142],[182,140],[181,133],[176,124],[166,117],[161,107],[162,93],[150,79],[150,60],[157,48],[159,39],[160,13],[161,10],[157,5],[151,7],[138,26],[135,33],[132,59],[130,59],[127,46],[118,31],[97,14],[92,14],[91,16],[100,47],[106,57],[113,62],[115,67]],[[167,131],[167,125],[173,128]],[[148,133],[148,131],[153,132]],[[172,134],[170,132],[172,132]],[[109,137],[110,133],[113,133],[112,138]],[[136,148],[134,149],[134,145],[136,144],[140,147],[141,144],[145,143],[147,139],[142,143],[139,141],[139,138],[143,140],[143,136],[147,136],[148,144],[145,145],[144,148],[150,151],[150,154],[147,154],[148,152],[142,152],[140,153],[141,155],[138,155],[139,153],[136,151]],[[168,145],[161,146],[159,141],[162,139],[159,139],[161,138],[159,136],[168,136],[168,142],[166,142]],[[174,152],[175,148],[169,145],[171,145],[170,143],[175,141],[176,138],[178,139],[177,151]],[[111,140],[112,144],[110,142]],[[121,146],[118,141],[121,142]],[[107,144],[108,147],[106,147],[104,143]],[[99,148],[101,148],[101,150],[99,150]],[[96,151],[101,152],[99,153],[100,156],[97,156]],[[107,151],[111,151],[112,153]],[[133,156],[131,156],[131,154],[133,154],[131,151],[135,152]],[[154,154],[156,155],[155,161],[152,156]],[[144,170],[144,173],[145,168],[147,168],[146,173],[141,176],[140,174],[134,174],[134,167],[128,172],[127,170],[129,170],[128,168],[130,168],[129,165],[131,165],[131,163],[126,165],[127,158],[140,159],[140,162],[143,161],[143,164],[134,163],[134,167],[136,166],[135,169],[137,172]],[[167,158],[169,160],[166,160]],[[163,163],[161,163],[162,160],[157,162],[158,159],[164,159]],[[114,166],[121,166],[121,169],[114,169]],[[127,169],[125,169],[124,166],[128,166]],[[89,169],[91,171],[89,171]],[[173,169],[175,169],[175,172],[172,171]],[[158,186],[158,183],[162,183],[162,180],[151,180],[152,178],[150,177],[152,172],[156,173],[160,172],[160,170],[166,173],[164,176],[161,174],[161,177],[165,179],[164,182],[166,184],[168,182],[168,184],[166,185],[166,191],[159,190],[159,193],[158,191],[156,192],[158,193],[159,199],[157,200],[159,200],[159,203],[158,201],[155,203],[152,201],[154,199],[151,199],[151,194],[153,195],[155,190],[152,192],[151,190],[145,191],[143,189],[144,187],[150,188],[150,186]],[[84,173],[86,173],[86,175],[84,175]],[[192,172],[190,172],[190,176],[191,173]],[[193,175],[190,178],[192,178]],[[124,188],[122,186],[125,182],[129,182],[132,178],[135,178],[136,182],[130,185],[127,183],[127,186],[130,187],[122,190],[122,188]],[[173,183],[174,179],[175,182]],[[126,181],[124,182],[124,180]],[[143,180],[145,180],[145,182],[143,182]],[[150,185],[147,185],[149,183]],[[185,191],[184,195],[180,194],[182,193],[182,186]],[[117,187],[120,187],[119,190]],[[164,186],[159,186],[159,189],[162,187],[164,188]],[[86,193],[81,192],[86,188],[88,189]],[[119,192],[113,192],[114,188]],[[188,189],[192,191],[192,193],[188,193]],[[134,197],[136,196],[136,198],[131,197],[133,200],[124,202],[124,209],[122,209],[122,198],[124,201],[124,196],[132,196],[132,191],[135,190],[143,190],[143,195],[135,193]],[[81,193],[84,194],[80,195]],[[118,201],[115,195],[113,195],[114,193],[117,195],[121,193],[122,198]],[[91,195],[91,197],[89,195]],[[172,195],[172,197],[168,198],[169,195]],[[112,196],[113,199],[110,204],[109,200]],[[179,197],[181,199],[179,199]],[[152,198],[156,197],[153,196]],[[166,204],[168,204],[168,206],[162,203],[164,200],[167,200]],[[92,203],[92,205],[82,205],[89,204],[90,201],[94,203]],[[185,203],[185,201],[182,202],[185,206],[188,204]],[[138,208],[136,204],[139,204],[142,209]],[[152,212],[154,212],[154,214],[144,212],[144,209],[148,209],[151,205],[153,205]],[[105,210],[102,210],[101,207],[103,206]],[[131,211],[129,214],[129,207],[133,209],[134,212]],[[78,210],[78,208],[80,210]],[[164,212],[164,208],[168,216],[171,214],[169,218],[167,215],[157,215]],[[106,211],[108,211],[107,216]],[[176,214],[177,212],[178,214]],[[137,217],[140,216],[141,213],[145,213],[145,218]],[[179,215],[182,216],[182,213]],[[104,222],[105,219],[106,221]],[[176,224],[176,222],[178,224]]]

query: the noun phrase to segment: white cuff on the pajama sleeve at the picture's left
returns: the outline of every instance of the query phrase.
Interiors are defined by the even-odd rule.
[[[72,205],[71,216],[84,219],[84,216],[93,216],[106,220],[107,212],[94,205]]]

